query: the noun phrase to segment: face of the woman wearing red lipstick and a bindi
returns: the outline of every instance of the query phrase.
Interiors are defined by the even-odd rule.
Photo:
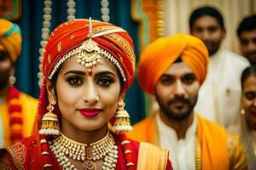
[[[115,65],[102,56],[92,72],[76,56],[62,65],[55,84],[61,128],[91,131],[107,126],[123,99],[121,80]],[[51,90],[53,92],[53,90]]]

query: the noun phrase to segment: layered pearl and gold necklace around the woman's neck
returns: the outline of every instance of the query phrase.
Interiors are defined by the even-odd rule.
[[[95,170],[95,161],[104,158],[102,169],[114,169],[118,158],[118,147],[115,145],[113,136],[108,134],[101,140],[92,144],[82,144],[72,139],[68,139],[63,133],[49,146],[53,151],[57,161],[64,169],[77,169],[68,161],[72,158],[76,161],[83,161],[86,170]]]

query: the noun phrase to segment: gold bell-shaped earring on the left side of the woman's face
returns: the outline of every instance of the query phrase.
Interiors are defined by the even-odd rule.
[[[48,112],[42,118],[42,126],[39,130],[40,134],[45,135],[60,135],[60,127],[58,117],[52,112],[56,104],[55,99],[49,98]]]

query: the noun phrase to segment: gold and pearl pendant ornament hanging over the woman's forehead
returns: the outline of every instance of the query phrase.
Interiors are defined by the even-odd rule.
[[[101,49],[97,46],[96,42],[92,40],[92,23],[91,19],[89,19],[89,33],[88,40],[85,41],[78,48],[78,62],[81,65],[84,65],[85,68],[88,68],[88,74],[92,74],[92,67],[99,64],[102,64],[101,61]]]

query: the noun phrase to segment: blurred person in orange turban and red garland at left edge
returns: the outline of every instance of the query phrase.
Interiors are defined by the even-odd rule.
[[[14,87],[21,51],[20,27],[0,19],[0,148],[30,135],[38,100]]]

